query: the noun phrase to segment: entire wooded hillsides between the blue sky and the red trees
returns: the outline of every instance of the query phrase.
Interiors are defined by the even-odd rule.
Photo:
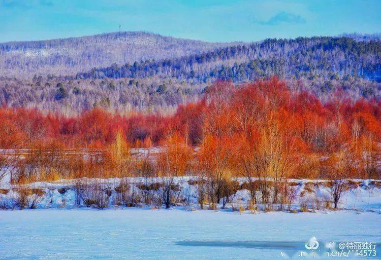
[[[0,104],[80,112],[172,109],[218,79],[278,76],[321,100],[381,97],[380,34],[207,43],[147,32],[0,44]]]

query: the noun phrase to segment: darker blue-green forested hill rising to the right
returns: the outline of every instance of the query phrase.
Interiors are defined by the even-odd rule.
[[[232,79],[234,82],[277,75],[281,78],[381,81],[381,41],[348,37],[268,39],[179,58],[146,60],[93,68],[77,78],[170,77],[189,83]]]

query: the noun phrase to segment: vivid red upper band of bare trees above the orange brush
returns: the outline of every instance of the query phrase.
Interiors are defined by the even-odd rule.
[[[364,138],[380,142],[381,102],[352,100],[337,93],[322,103],[313,94],[292,92],[277,78],[234,86],[217,81],[202,100],[180,105],[174,115],[122,115],[92,109],[66,117],[37,109],[0,108],[0,147],[27,148],[58,142],[65,147],[106,147],[118,129],[132,146],[158,145],[173,133],[199,145],[205,133],[252,138],[270,118],[299,153],[330,153]],[[283,138],[282,137],[282,138]]]

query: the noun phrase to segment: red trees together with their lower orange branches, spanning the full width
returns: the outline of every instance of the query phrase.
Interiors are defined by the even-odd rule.
[[[307,92],[291,91],[277,78],[238,88],[217,81],[205,92],[201,101],[180,105],[171,116],[120,115],[96,108],[65,117],[2,108],[0,147],[104,149],[121,133],[129,147],[168,146],[174,140],[187,151],[197,147],[197,153],[210,156],[202,168],[220,173],[231,172],[231,160],[249,163],[243,170],[255,170],[250,162],[261,149],[268,160],[277,156],[277,164],[268,167],[279,172],[315,175],[313,165],[322,156],[345,153],[345,158],[357,155],[351,160],[361,165],[361,176],[379,177],[380,101],[351,100],[338,92],[322,104]]]

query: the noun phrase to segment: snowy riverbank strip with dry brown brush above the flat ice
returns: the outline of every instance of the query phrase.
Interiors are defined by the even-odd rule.
[[[168,181],[168,180],[167,180]],[[200,182],[204,189],[200,190]],[[221,188],[221,200],[215,201],[214,183],[200,177],[175,177],[168,187],[163,177],[126,177],[111,179],[61,180],[35,182],[3,187],[0,190],[0,207],[3,209],[25,208],[78,208],[121,209],[143,207],[161,209],[163,206],[180,209],[210,209],[247,211],[289,211],[296,213],[325,211],[337,208],[371,210],[378,212],[381,197],[381,181],[346,180],[340,199],[332,194],[330,180],[295,180],[281,182],[282,189],[275,195],[274,182],[267,179],[271,188],[269,198],[263,202],[260,180],[255,179],[257,189],[247,190],[244,178],[225,181]],[[167,189],[171,191],[168,192]],[[256,200],[252,201],[252,192]],[[169,196],[169,198],[168,198]],[[370,200],[371,199],[371,200]],[[368,205],[373,205],[369,207]],[[336,207],[335,207],[336,209]]]

